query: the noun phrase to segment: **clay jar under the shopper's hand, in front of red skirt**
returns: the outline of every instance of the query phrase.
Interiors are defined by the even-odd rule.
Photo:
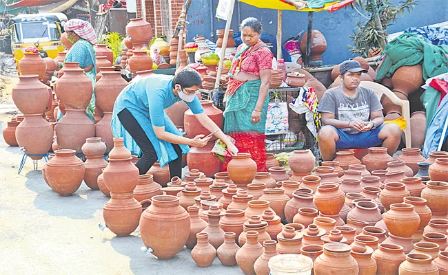
[[[244,188],[255,178],[256,162],[250,158],[249,153],[238,153],[232,156],[232,160],[227,164],[227,171],[230,179],[238,187]]]

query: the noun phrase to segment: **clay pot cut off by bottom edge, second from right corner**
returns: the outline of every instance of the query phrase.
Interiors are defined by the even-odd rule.
[[[414,275],[414,274],[439,274],[435,263],[431,263],[431,256],[427,254],[411,253],[406,255],[406,261],[400,265],[398,274]]]

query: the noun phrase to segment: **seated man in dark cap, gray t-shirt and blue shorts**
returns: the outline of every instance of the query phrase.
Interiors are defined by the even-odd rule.
[[[336,157],[336,148],[369,148],[383,144],[394,155],[401,139],[400,127],[383,124],[383,106],[371,89],[360,87],[358,61],[340,65],[342,84],[325,91],[319,102],[323,127],[318,133],[320,154],[324,161]]]

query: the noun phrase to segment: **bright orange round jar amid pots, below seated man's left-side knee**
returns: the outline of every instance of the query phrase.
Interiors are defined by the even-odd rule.
[[[337,184],[325,184],[318,186],[313,201],[320,212],[334,215],[343,208],[345,194]]]

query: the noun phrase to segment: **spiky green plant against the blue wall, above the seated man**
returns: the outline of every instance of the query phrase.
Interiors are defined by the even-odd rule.
[[[398,5],[392,5],[387,0],[354,1],[350,7],[369,20],[356,22],[357,27],[353,34],[349,35],[354,46],[349,45],[349,50],[353,54],[367,57],[369,49],[374,47],[383,49],[387,43],[387,27],[395,23],[398,16],[403,16],[405,11],[410,12],[417,3],[416,0],[400,1]]]

